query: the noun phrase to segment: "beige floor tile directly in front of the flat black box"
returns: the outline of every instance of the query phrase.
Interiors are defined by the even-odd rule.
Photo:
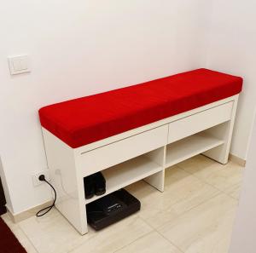
[[[110,226],[84,241],[73,253],[113,253],[153,231],[139,216],[134,215]]]

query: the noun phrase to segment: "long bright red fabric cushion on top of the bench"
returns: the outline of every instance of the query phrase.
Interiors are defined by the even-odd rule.
[[[241,86],[242,78],[198,69],[45,106],[39,116],[75,148],[236,95]]]

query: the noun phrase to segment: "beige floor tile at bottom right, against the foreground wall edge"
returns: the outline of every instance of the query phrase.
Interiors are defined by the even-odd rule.
[[[221,193],[158,231],[185,253],[228,253],[236,207],[234,198]]]

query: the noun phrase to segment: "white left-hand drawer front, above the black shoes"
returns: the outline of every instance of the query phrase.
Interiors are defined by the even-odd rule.
[[[82,175],[90,175],[165,146],[167,135],[168,125],[166,124],[89,152],[81,153],[76,158],[76,163]]]

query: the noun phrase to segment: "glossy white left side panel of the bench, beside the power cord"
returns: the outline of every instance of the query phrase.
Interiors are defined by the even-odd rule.
[[[51,183],[57,193],[55,207],[79,233],[87,233],[84,180],[77,170],[73,149],[44,129],[43,134]]]

